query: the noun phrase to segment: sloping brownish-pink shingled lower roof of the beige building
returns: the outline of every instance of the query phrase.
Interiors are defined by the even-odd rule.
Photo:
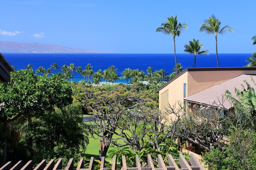
[[[216,107],[223,107],[224,109],[230,109],[233,107],[233,105],[225,98],[225,91],[228,89],[229,92],[235,98],[237,98],[235,96],[235,87],[239,90],[242,90],[243,87],[241,86],[241,84],[243,84],[246,88],[247,85],[244,83],[244,80],[246,80],[254,89],[256,89],[256,85],[253,83],[252,78],[256,81],[255,75],[239,75],[235,78],[229,79],[220,84],[209,87],[208,89],[205,89],[201,92],[188,96],[184,98],[184,100],[193,103],[202,103],[206,105],[213,105]]]

